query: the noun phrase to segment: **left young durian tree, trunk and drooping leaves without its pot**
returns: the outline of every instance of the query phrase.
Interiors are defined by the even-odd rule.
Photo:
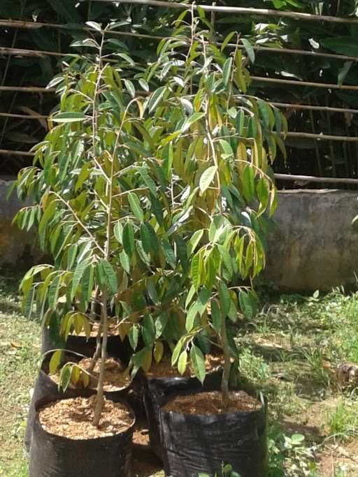
[[[19,173],[18,193],[31,196],[34,205],[15,220],[22,228],[37,227],[53,260],[24,276],[24,311],[31,313],[36,304],[43,323],[66,339],[83,330],[89,337],[100,309],[90,370],[67,362],[60,374],[64,389],[70,381],[87,385],[101,356],[93,422],[98,425],[110,318],[134,350],[141,337],[131,366],[134,372],[148,370],[153,356],[162,358],[160,337],[174,343],[182,335],[173,304],[181,269],[180,252],[174,251],[176,217],[156,156],[161,135],[145,119],[156,108],[157,94],[148,93],[145,68],[110,38],[117,24],[104,31],[94,22],[89,26],[101,41],[93,36],[75,42],[94,54],[73,59],[50,84],[57,85],[59,110],[50,117],[45,140],[34,147],[34,166]],[[60,349],[52,354],[50,372],[61,367],[61,357]]]

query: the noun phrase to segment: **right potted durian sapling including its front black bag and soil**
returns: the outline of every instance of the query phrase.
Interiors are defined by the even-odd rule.
[[[185,333],[171,362],[180,374],[189,364],[204,383],[206,362],[198,338],[205,333],[221,346],[224,365],[216,392],[204,388],[153,397],[162,399],[164,465],[166,474],[177,477],[214,475],[227,462],[243,477],[262,477],[267,472],[266,405],[242,389],[229,390],[240,352],[230,323],[252,316],[257,306],[252,280],[264,268],[266,216],[275,210],[268,164],[278,148],[285,154],[281,134],[287,126],[278,110],[246,94],[246,66],[255,57],[250,43],[230,34],[220,49],[200,8],[199,17],[192,15],[188,23],[185,15],[172,38],[159,44],[159,60],[146,76],[161,82],[153,93],[153,120],[162,135],[157,156],[176,212],[172,233],[184,242],[187,260],[187,268],[180,268],[177,298]],[[235,42],[227,54],[230,40]]]

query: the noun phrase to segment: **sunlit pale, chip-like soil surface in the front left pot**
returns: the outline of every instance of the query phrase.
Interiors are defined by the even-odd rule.
[[[104,400],[99,427],[92,425],[96,395],[55,401],[38,411],[43,429],[69,439],[95,439],[113,436],[129,429],[133,416],[120,402]]]

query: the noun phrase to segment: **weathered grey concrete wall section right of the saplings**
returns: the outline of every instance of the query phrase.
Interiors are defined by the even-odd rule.
[[[265,277],[281,290],[329,290],[355,284],[358,273],[358,193],[295,190],[278,193],[268,237]]]

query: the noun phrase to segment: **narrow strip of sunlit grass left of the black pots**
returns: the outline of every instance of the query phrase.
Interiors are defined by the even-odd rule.
[[[39,326],[21,315],[17,277],[0,272],[0,476],[27,476],[22,451],[29,393],[39,358]]]

